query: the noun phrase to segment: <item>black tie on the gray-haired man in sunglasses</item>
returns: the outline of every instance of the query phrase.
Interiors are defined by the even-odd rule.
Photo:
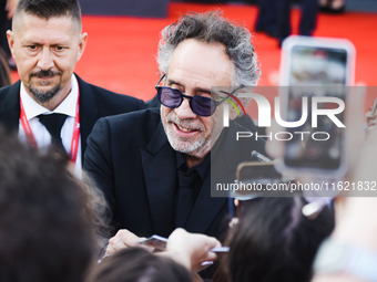
[[[181,167],[177,170],[177,178],[179,190],[176,196],[175,226],[184,227],[194,207],[196,199],[195,190],[198,186],[200,176],[195,169],[187,171]]]

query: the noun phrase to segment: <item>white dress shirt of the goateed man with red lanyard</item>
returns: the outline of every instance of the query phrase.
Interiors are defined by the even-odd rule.
[[[72,74],[72,87],[71,92],[64,98],[64,101],[52,112],[42,105],[38,104],[26,91],[23,83],[21,83],[21,101],[24,108],[24,114],[28,118],[30,128],[34,135],[37,145],[39,148],[47,148],[51,144],[51,135],[48,129],[39,122],[38,115],[41,114],[64,114],[67,119],[61,129],[61,138],[64,149],[69,154],[71,152],[71,143],[73,135],[74,117],[77,114],[77,103],[79,96],[79,83],[75,76]],[[27,136],[22,127],[21,121],[19,122],[19,137],[26,142]],[[81,165],[81,134],[79,138],[78,157],[74,165],[74,171],[80,175],[82,170]]]

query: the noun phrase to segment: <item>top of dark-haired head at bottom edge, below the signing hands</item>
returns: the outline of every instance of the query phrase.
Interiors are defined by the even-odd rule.
[[[183,265],[142,248],[128,248],[94,265],[86,282],[192,282]]]

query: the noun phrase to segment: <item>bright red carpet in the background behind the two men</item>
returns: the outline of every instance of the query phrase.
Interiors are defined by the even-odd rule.
[[[77,73],[93,84],[149,100],[155,94],[154,84],[159,79],[154,56],[162,28],[187,11],[213,9],[223,10],[226,18],[245,24],[253,32],[257,13],[254,6],[171,3],[167,19],[83,17],[83,30],[89,33],[89,40]],[[298,18],[299,10],[294,9],[294,32]],[[377,85],[376,27],[375,13],[319,14],[315,35],[349,39],[357,50],[356,82]],[[264,34],[253,33],[263,72],[259,84],[275,85],[279,65],[277,43]]]

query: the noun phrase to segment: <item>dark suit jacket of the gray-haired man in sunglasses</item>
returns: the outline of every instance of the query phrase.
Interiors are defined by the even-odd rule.
[[[220,140],[230,139],[224,130]],[[254,145],[263,152],[264,144]],[[225,164],[226,154],[236,155],[218,150],[212,161],[233,181],[238,159]],[[249,159],[249,154],[241,156]],[[88,138],[84,169],[104,192],[116,228],[140,237],[167,237],[175,229],[175,152],[163,129],[159,108],[101,118]],[[211,198],[210,181],[207,174],[184,228],[218,238],[227,215],[227,199]]]

